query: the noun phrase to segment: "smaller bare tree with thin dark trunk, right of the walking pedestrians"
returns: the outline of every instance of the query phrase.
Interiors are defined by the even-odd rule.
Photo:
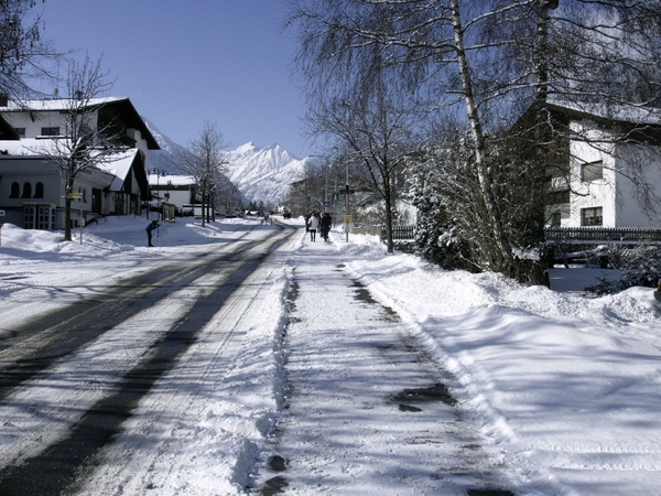
[[[369,23],[388,24],[388,13],[369,12]],[[392,252],[395,202],[403,185],[398,177],[414,148],[418,108],[383,46],[335,48],[315,36],[303,40],[299,62],[311,83],[308,122],[314,134],[328,138],[333,149],[346,150],[346,160],[367,172],[371,190],[384,204],[387,246]]]

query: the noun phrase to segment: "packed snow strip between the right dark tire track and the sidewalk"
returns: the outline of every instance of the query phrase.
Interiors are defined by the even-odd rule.
[[[246,431],[268,430],[270,421],[253,417],[251,406],[241,406],[242,399],[232,393],[232,382],[242,380],[251,359],[260,369],[264,367],[263,357],[250,356],[254,348],[259,353],[259,346],[247,339],[247,334],[253,326],[263,325],[256,323],[256,313],[264,304],[264,293],[277,273],[272,265],[262,267],[231,293],[205,325],[198,342],[141,401],[122,434],[99,453],[95,464],[100,466],[82,477],[74,494],[142,494],[151,489],[162,494],[218,494],[217,487],[228,479],[245,484],[240,481],[250,468],[243,465],[252,466],[257,448],[243,440],[245,431],[232,442],[231,429],[240,423],[240,416]],[[229,331],[223,334],[221,330]],[[266,382],[271,380],[267,377]],[[263,416],[273,417],[268,411]],[[254,432],[256,438],[266,434]]]

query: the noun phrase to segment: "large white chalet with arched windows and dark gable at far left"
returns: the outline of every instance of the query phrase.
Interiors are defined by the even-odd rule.
[[[45,150],[64,137],[69,106],[65,99],[22,101],[0,98],[0,116],[14,136],[0,136],[0,209],[4,222],[25,228],[64,228],[65,176]],[[97,98],[87,105],[99,143],[117,151],[76,177],[80,200],[73,202],[73,224],[102,215],[140,215],[149,201],[148,150],[159,144],[128,98]],[[13,138],[13,139],[12,139]],[[17,139],[18,138],[18,139]]]

